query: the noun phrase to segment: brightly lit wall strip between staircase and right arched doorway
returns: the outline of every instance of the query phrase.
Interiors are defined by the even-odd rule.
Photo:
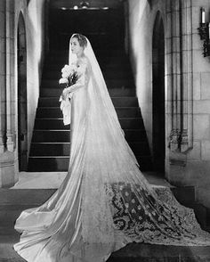
[[[151,2],[151,1],[150,1]],[[165,19],[165,1],[129,1],[130,57],[136,94],[152,153],[152,36],[158,11]]]

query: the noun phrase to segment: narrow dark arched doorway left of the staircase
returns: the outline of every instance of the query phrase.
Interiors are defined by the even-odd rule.
[[[28,118],[27,118],[27,50],[26,29],[22,13],[18,22],[18,153],[19,170],[27,170]]]

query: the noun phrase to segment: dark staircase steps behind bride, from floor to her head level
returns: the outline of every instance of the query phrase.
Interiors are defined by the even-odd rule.
[[[149,144],[135,96],[135,86],[128,57],[123,48],[96,50],[109,94],[117,111],[125,139],[132,148],[141,170],[151,169]],[[58,81],[61,68],[68,63],[68,51],[53,50],[45,64],[36,111],[36,120],[28,171],[66,171],[69,167],[70,126],[64,126]]]

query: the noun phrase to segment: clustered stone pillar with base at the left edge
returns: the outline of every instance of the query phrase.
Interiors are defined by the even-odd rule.
[[[15,183],[14,1],[0,3],[1,98],[0,98],[0,187]],[[4,61],[4,62],[3,62]]]

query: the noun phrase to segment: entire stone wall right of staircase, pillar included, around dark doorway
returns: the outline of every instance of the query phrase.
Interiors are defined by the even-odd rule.
[[[195,185],[210,207],[210,59],[198,35],[209,1],[129,1],[130,54],[136,93],[152,151],[152,33],[159,11],[165,28],[166,178]]]

